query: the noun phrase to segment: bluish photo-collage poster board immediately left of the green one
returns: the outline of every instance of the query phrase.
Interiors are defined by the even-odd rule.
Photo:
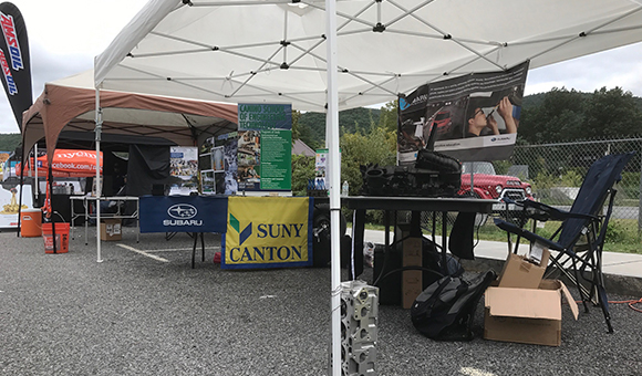
[[[198,166],[203,195],[235,195],[238,190],[238,133],[210,137],[200,147]]]

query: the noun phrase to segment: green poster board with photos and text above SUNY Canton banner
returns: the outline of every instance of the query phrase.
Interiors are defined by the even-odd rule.
[[[292,189],[292,106],[238,105],[239,191]]]

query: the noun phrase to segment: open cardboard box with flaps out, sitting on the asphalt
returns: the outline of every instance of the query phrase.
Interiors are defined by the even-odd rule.
[[[578,320],[578,305],[561,281],[542,280],[538,289],[488,288],[484,338],[559,346],[562,296]]]

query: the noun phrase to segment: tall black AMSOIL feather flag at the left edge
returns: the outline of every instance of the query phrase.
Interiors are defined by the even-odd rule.
[[[11,2],[0,3],[0,29],[2,29],[0,36],[2,85],[18,127],[22,129],[22,113],[33,104],[31,62],[24,19]]]

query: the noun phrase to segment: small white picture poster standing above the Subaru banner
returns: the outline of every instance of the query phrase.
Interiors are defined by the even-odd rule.
[[[169,147],[169,195],[188,196],[198,191],[198,148]]]

